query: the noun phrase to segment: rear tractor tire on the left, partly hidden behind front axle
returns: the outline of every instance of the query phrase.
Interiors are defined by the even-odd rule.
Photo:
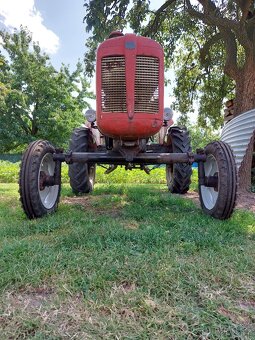
[[[88,152],[93,142],[92,133],[87,128],[77,128],[73,131],[69,149],[72,152]],[[73,163],[69,165],[70,185],[76,195],[86,194],[93,190],[96,175],[96,165],[91,163]]]

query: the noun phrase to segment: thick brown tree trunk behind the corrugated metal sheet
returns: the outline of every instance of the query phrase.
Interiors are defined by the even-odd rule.
[[[236,98],[234,117],[255,108],[255,60],[247,59],[236,79]],[[255,120],[255,115],[254,115]],[[254,134],[250,140],[246,155],[238,172],[238,192],[251,190],[251,167],[254,146]]]

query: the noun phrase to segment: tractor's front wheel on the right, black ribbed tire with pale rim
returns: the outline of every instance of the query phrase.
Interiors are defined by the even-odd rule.
[[[205,154],[205,176],[213,178],[215,185],[199,184],[201,207],[206,214],[224,220],[231,216],[236,202],[235,159],[230,146],[222,141],[209,143]]]

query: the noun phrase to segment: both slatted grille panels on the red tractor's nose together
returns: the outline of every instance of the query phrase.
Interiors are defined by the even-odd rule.
[[[102,112],[127,112],[125,57],[102,58],[101,72]],[[159,111],[159,59],[156,57],[136,57],[134,111]]]

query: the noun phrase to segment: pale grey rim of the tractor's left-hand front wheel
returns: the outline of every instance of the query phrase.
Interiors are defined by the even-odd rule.
[[[46,186],[43,189],[40,188],[40,177],[42,173],[47,176],[53,176],[55,171],[55,162],[53,161],[52,154],[46,153],[41,161],[40,169],[38,173],[38,192],[43,206],[46,209],[51,209],[58,198],[59,185]]]

